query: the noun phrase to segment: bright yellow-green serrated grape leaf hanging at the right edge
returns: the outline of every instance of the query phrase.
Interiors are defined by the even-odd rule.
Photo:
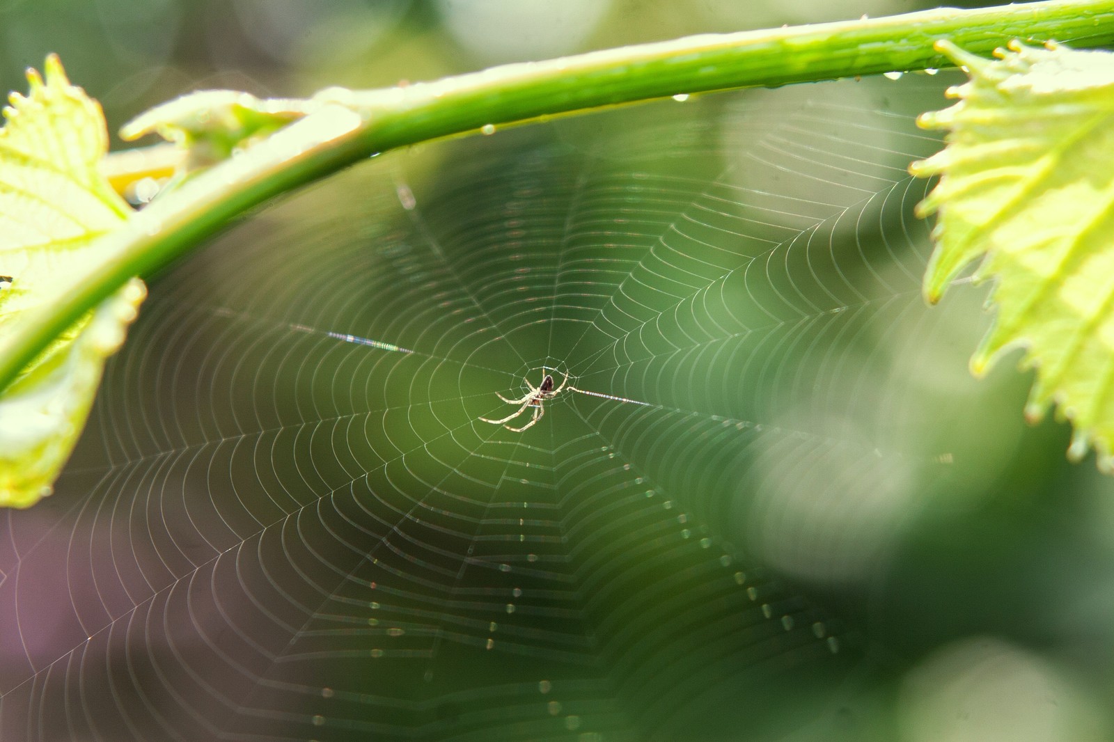
[[[977,281],[995,279],[994,325],[971,359],[985,373],[1023,346],[1037,370],[1026,416],[1051,404],[1073,422],[1068,455],[1091,446],[1114,469],[1114,55],[1019,42],[987,60],[940,41],[969,80],[959,101],[925,114],[948,129],[947,147],[915,163],[940,175],[919,205],[938,213],[925,295],[981,258]]]

